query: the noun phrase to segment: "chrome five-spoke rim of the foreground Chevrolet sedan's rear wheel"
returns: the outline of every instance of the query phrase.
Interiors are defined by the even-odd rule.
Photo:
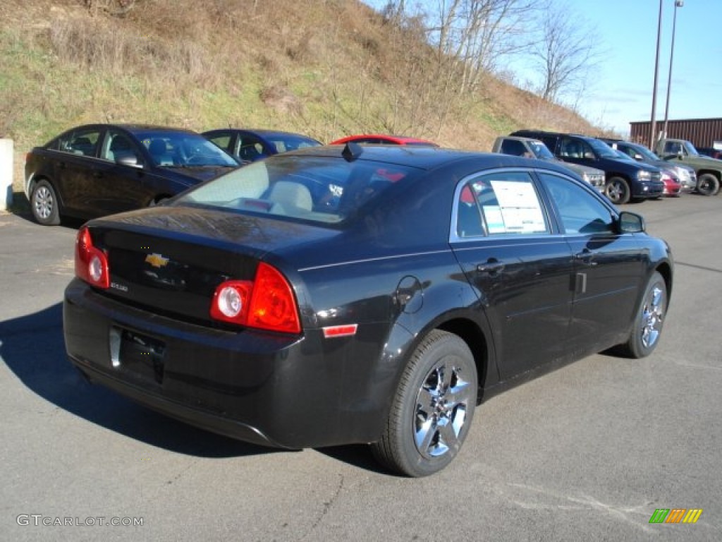
[[[458,447],[466,410],[474,407],[469,404],[474,397],[460,366],[443,361],[429,371],[417,395],[413,421],[419,454],[431,459]]]

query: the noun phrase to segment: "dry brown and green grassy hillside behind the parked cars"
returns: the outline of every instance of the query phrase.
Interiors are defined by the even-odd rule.
[[[450,95],[419,35],[357,0],[138,0],[126,17],[87,4],[0,4],[0,137],[15,142],[17,192],[27,150],[90,122],[321,141],[373,131],[473,150],[521,127],[599,132],[492,77]]]

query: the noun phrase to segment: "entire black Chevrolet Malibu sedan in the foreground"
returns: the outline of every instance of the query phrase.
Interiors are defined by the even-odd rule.
[[[87,377],[169,416],[271,447],[370,443],[425,476],[482,400],[652,353],[673,269],[639,215],[554,163],[350,143],[87,223],[64,335]]]

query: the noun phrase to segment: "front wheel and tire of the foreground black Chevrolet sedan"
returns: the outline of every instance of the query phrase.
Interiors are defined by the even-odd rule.
[[[667,286],[662,275],[654,272],[635,313],[630,338],[619,346],[619,353],[635,359],[649,356],[659,343],[666,311]]]

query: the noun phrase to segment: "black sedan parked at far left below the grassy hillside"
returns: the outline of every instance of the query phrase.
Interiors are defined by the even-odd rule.
[[[25,160],[25,194],[43,225],[156,205],[240,163],[189,130],[135,124],[70,129]]]

